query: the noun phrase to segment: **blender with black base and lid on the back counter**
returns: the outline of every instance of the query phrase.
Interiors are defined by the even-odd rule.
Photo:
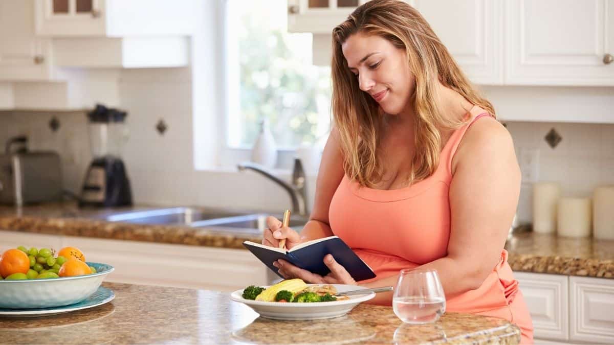
[[[85,174],[80,206],[129,206],[130,180],[121,158],[126,112],[101,104],[87,114],[93,160]]]

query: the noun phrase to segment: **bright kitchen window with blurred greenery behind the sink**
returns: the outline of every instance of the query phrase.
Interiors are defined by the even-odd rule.
[[[312,34],[287,32],[286,0],[222,0],[227,147],[251,149],[266,118],[278,149],[322,145],[330,67],[312,63]]]

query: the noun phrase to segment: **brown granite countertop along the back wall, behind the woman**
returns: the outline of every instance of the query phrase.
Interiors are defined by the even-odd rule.
[[[127,209],[144,209],[146,206]],[[149,207],[151,208],[151,207]],[[125,208],[126,209],[126,208]],[[125,210],[124,209],[124,210]],[[244,249],[260,236],[186,226],[111,223],[96,219],[119,209],[79,209],[75,203],[0,206],[0,230]],[[505,244],[514,271],[614,278],[614,241],[515,233]]]

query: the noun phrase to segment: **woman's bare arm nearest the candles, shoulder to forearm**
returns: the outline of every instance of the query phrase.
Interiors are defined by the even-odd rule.
[[[480,287],[499,262],[518,205],[520,176],[508,131],[492,119],[473,123],[453,161],[448,255],[420,266],[437,269],[447,298]],[[397,279],[363,285],[395,286]],[[378,293],[371,303],[391,300],[392,293]]]

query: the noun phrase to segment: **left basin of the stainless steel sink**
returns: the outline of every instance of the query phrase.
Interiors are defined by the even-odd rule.
[[[204,219],[216,219],[238,215],[233,212],[210,211],[192,207],[169,207],[162,209],[146,209],[138,211],[125,211],[103,215],[107,222],[125,222],[153,225],[191,225]]]

